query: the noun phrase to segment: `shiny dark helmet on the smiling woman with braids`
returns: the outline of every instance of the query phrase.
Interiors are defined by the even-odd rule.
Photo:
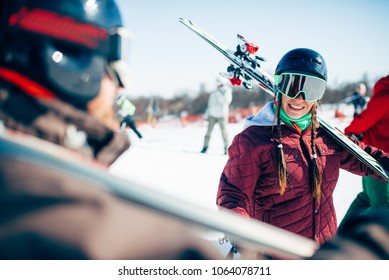
[[[327,81],[326,62],[311,49],[298,48],[287,52],[278,63],[275,75],[285,72],[312,75]]]

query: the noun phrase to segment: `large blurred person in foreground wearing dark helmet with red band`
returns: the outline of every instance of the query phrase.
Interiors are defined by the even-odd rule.
[[[217,259],[90,176],[129,147],[112,109],[128,86],[115,2],[1,0],[0,13],[0,259]]]

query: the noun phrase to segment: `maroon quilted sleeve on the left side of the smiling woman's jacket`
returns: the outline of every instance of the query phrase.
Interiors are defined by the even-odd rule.
[[[250,140],[240,134],[235,136],[229,155],[220,177],[216,204],[249,217],[250,198],[260,176],[259,157]]]

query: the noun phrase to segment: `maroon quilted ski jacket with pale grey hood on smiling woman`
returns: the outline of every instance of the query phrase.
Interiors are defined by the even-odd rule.
[[[358,175],[372,175],[377,179],[378,176],[318,128],[315,144],[323,182],[320,204],[316,204],[309,185],[312,153],[310,129],[300,134],[296,129],[283,124],[282,144],[288,183],[285,193],[280,195],[277,187],[277,144],[273,138],[273,123],[271,102],[255,116],[249,117],[246,120],[247,128],[235,136],[220,178],[217,205],[314,239],[321,244],[337,230],[332,195],[339,169]],[[363,143],[356,143],[389,168],[389,154]]]

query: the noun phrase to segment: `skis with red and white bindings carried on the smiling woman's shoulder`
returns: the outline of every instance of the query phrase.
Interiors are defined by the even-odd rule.
[[[258,48],[253,46],[251,43],[248,43],[243,36],[238,35],[238,39],[240,39],[243,44],[238,45],[236,50],[232,50],[218,42],[214,37],[194,24],[192,21],[179,18],[179,22],[195,32],[198,36],[224,55],[230,65],[227,68],[227,72],[221,73],[221,75],[228,78],[233,85],[239,86],[242,83],[243,86],[250,89],[251,82],[254,80],[258,86],[260,86],[268,94],[274,96],[274,78],[261,68],[259,61],[264,61],[264,59],[258,56],[253,56]],[[383,180],[389,182],[389,173],[375,158],[361,149],[340,130],[333,127],[319,116],[318,121],[326,133],[328,133],[338,144],[373,170]]]

